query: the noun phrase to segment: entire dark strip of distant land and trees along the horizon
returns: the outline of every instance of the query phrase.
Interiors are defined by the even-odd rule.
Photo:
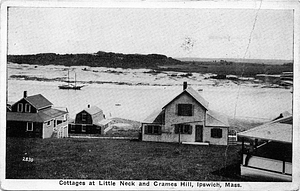
[[[199,72],[217,75],[254,77],[256,74],[281,74],[292,72],[293,63],[272,65],[219,61],[179,61],[160,54],[122,54],[99,51],[95,54],[8,55],[8,62],[33,65],[92,66],[110,68],[147,68],[156,72]],[[188,76],[187,76],[188,77]]]

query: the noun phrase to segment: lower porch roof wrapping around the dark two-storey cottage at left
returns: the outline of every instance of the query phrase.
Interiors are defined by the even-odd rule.
[[[52,108],[39,111],[38,113],[7,112],[7,121],[45,122],[66,113],[66,111]]]

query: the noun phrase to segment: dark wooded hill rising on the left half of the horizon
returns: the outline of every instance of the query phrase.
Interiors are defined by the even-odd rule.
[[[181,63],[179,60],[160,54],[121,54],[99,51],[95,54],[8,55],[8,61],[18,64],[92,66],[112,68],[156,68],[159,65]]]

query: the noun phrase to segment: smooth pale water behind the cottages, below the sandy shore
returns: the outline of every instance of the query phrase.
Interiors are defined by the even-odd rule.
[[[53,82],[9,80],[8,101],[18,101],[23,91],[27,91],[28,95],[44,95],[55,107],[67,107],[71,118],[90,104],[101,108],[107,117],[142,121],[182,91],[179,86],[111,84],[92,84],[75,91],[60,90],[58,85]],[[285,89],[204,87],[199,93],[209,102],[210,109],[231,117],[272,119],[292,108],[292,94]]]

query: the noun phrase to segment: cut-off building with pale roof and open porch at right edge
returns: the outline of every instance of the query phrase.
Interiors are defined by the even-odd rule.
[[[255,179],[292,181],[293,116],[238,133],[242,138],[241,175]],[[250,141],[246,148],[244,141]],[[251,142],[252,141],[252,142]]]

